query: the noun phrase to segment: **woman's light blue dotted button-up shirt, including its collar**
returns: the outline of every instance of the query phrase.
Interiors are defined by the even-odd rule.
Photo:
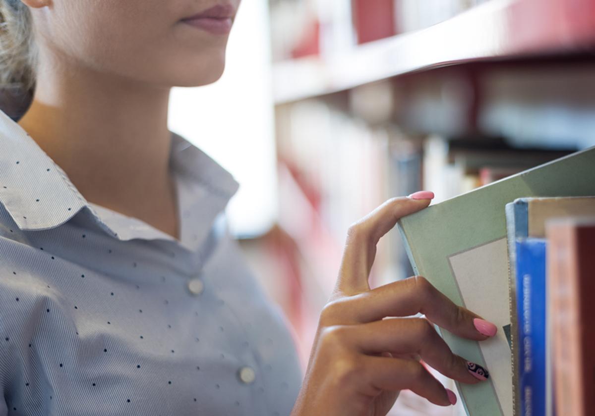
[[[0,415],[289,415],[302,380],[224,208],[172,133],[180,241],[89,203],[0,112]]]

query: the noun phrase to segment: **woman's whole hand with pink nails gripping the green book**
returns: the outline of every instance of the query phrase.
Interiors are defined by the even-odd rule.
[[[459,382],[488,377],[483,368],[453,354],[433,323],[475,341],[493,336],[496,326],[455,305],[421,276],[376,289],[368,285],[377,242],[400,217],[427,207],[431,198],[432,193],[392,198],[350,226],[292,416],[384,416],[402,389],[437,405],[455,404],[455,394],[420,358]],[[426,318],[407,317],[417,313]]]

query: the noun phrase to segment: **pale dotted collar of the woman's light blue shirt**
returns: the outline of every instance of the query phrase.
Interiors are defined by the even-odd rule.
[[[212,222],[239,188],[239,183],[230,172],[198,147],[173,132],[170,166],[176,175],[179,193],[182,187],[190,195],[200,189],[201,196],[209,198],[208,212],[202,213],[202,220],[205,221]],[[23,231],[55,228],[87,208],[98,225],[115,238],[162,238],[176,241],[165,232],[146,226],[139,219],[134,219],[137,226],[120,229],[121,232],[118,233],[115,229],[118,228],[118,222],[114,221],[114,218],[130,217],[89,203],[60,166],[3,111],[0,111],[0,172],[0,203]],[[187,194],[179,194],[180,217],[185,216],[183,213],[189,209],[200,209],[196,202]],[[108,221],[110,216],[112,220]],[[183,221],[183,218],[180,220]],[[186,231],[186,237],[181,241],[182,245],[189,250],[196,250],[198,240],[204,237],[198,234],[205,234],[206,227],[203,224],[195,223],[195,226],[199,229],[193,232],[194,242],[190,241],[189,231],[182,230],[183,237]]]

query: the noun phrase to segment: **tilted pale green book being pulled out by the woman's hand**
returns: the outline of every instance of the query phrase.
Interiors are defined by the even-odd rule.
[[[485,383],[456,383],[469,416],[513,416],[511,308],[505,206],[522,197],[595,194],[595,147],[450,198],[397,223],[417,275],[490,320],[497,334],[475,342],[439,329],[455,354],[484,365]]]

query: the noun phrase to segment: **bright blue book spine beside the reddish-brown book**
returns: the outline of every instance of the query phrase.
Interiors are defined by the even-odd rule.
[[[516,241],[519,415],[546,414],[546,240]]]

